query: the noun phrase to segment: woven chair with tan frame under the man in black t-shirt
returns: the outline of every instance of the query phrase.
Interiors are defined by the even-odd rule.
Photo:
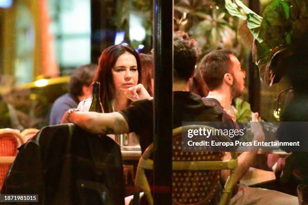
[[[232,194],[235,175],[238,167],[237,153],[231,152],[232,159],[222,161],[223,152],[182,152],[182,129],[208,126],[183,126],[173,130],[173,174],[172,174],[172,200],[173,204],[208,204],[215,200],[214,196],[220,188],[220,170],[229,169],[230,175],[224,185],[220,196],[220,205],[227,204]],[[220,141],[228,141],[225,136],[218,137]],[[140,187],[150,205],[153,198],[145,170],[153,169],[153,160],[149,159],[153,151],[151,144],[141,156],[136,173],[135,185]]]

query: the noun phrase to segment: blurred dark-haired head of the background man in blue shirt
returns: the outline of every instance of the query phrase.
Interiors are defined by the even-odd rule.
[[[70,77],[68,84],[69,93],[77,96],[80,100],[89,97],[92,93],[92,82],[96,68],[96,64],[88,64],[77,67],[72,72]]]

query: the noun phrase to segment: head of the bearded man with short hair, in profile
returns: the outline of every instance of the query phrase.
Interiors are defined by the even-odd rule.
[[[210,52],[202,58],[199,68],[210,91],[227,86],[233,98],[243,94],[245,74],[232,51],[223,49]]]

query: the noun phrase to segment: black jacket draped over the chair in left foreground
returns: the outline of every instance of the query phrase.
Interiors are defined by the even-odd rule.
[[[40,204],[124,204],[120,147],[73,124],[45,127],[19,148],[1,194],[39,194]]]

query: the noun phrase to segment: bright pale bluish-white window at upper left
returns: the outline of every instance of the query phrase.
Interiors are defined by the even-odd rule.
[[[50,32],[60,67],[60,74],[90,63],[91,8],[90,0],[49,0]]]

